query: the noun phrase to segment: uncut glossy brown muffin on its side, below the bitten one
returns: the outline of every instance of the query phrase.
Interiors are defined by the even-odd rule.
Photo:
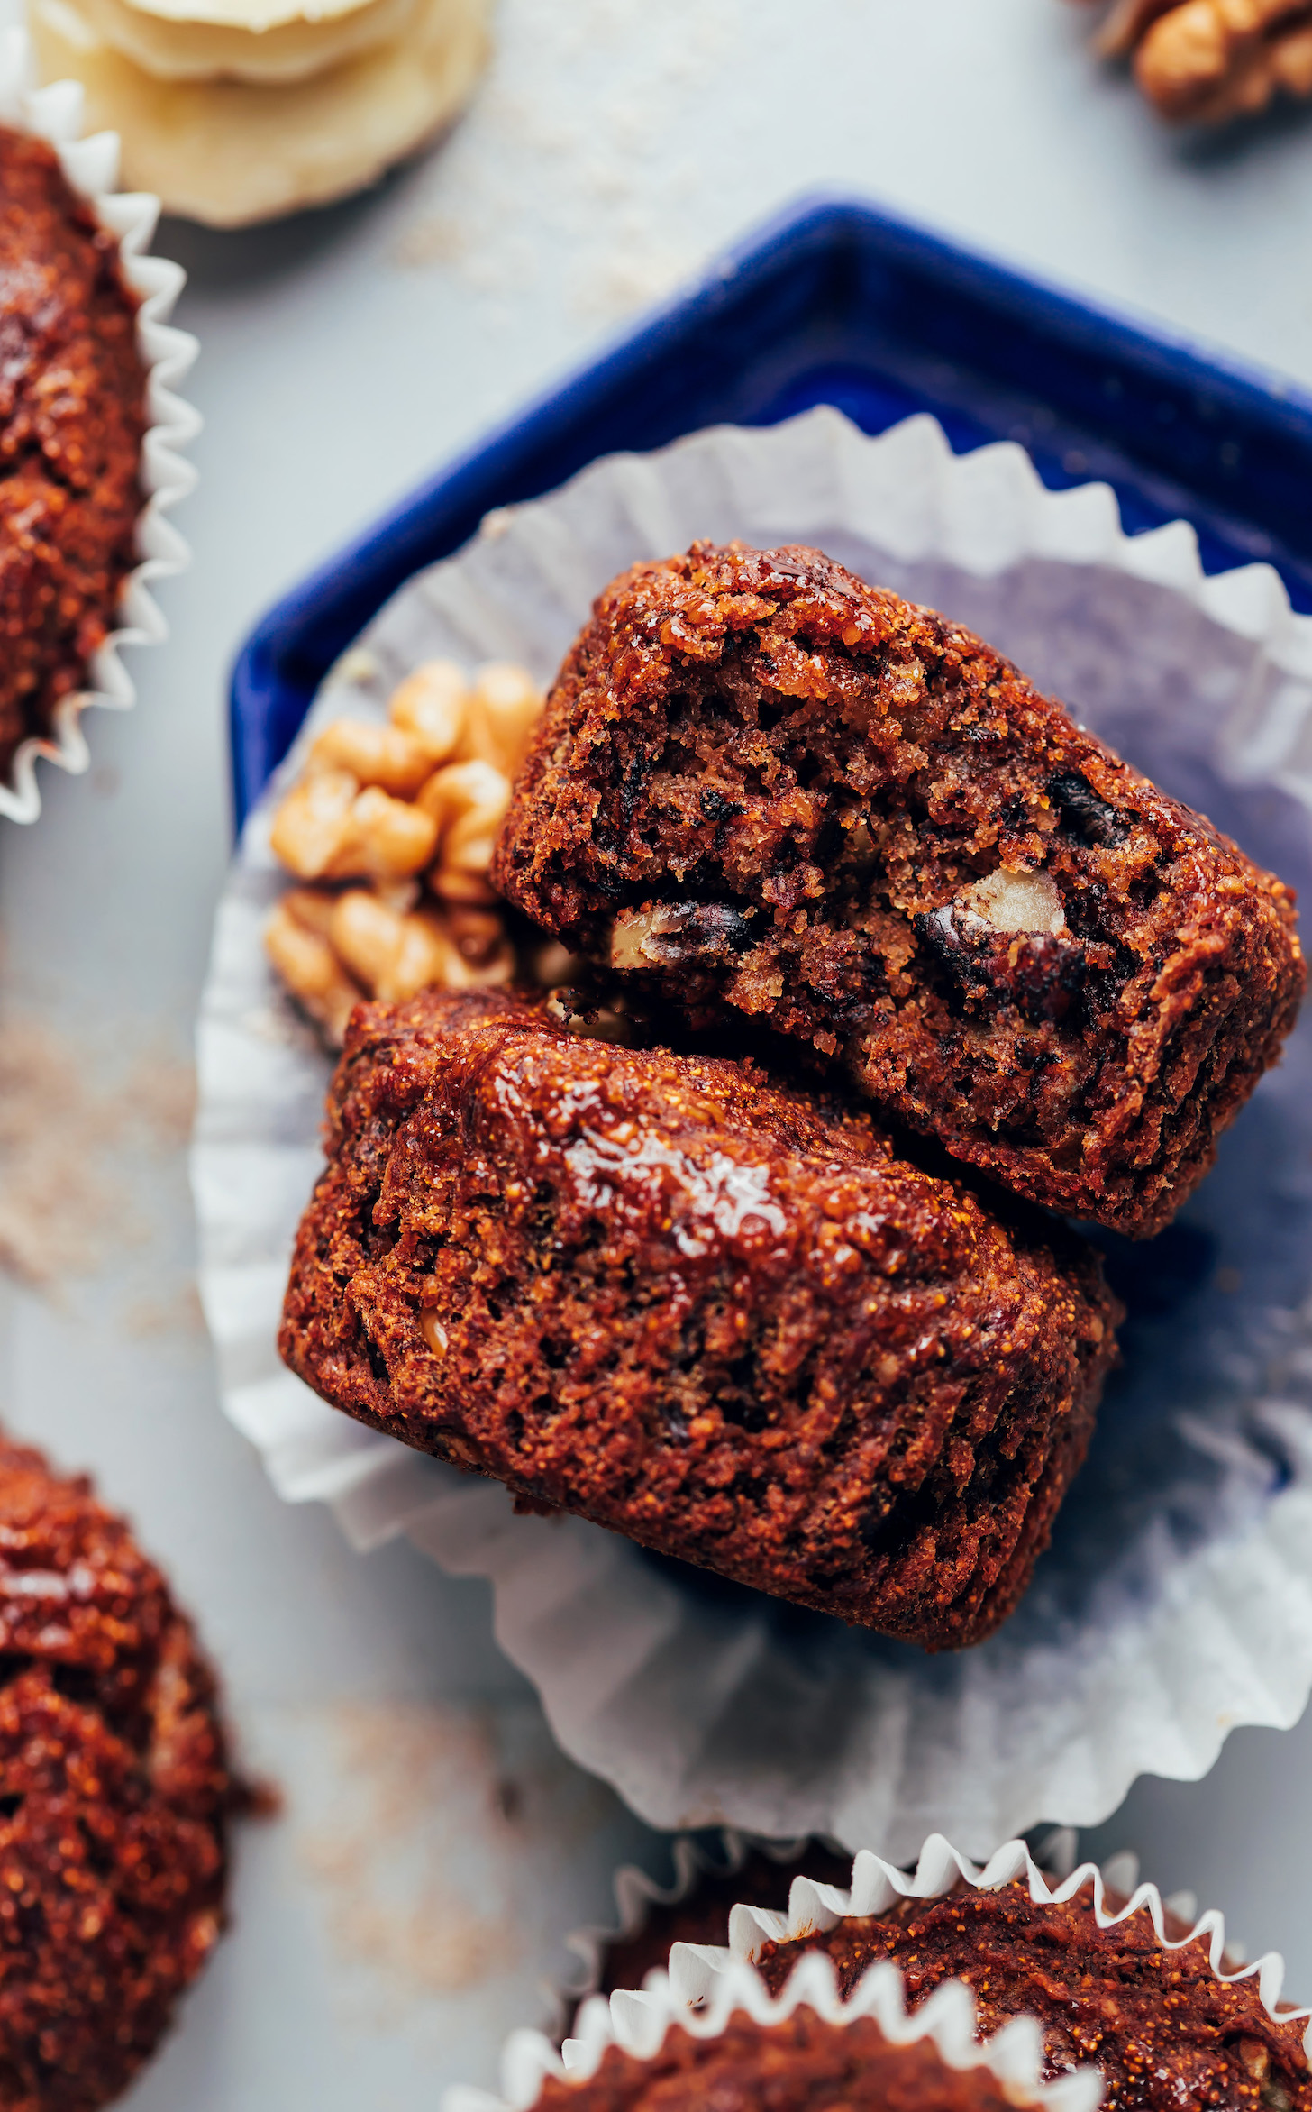
[[[1025,1590],[1113,1354],[1082,1242],[748,1064],[503,993],[357,1007],[327,1159],[279,1337],[325,1400],[930,1647]]]

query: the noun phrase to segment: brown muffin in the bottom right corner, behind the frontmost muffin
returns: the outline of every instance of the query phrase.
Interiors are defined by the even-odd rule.
[[[963,1979],[985,2038],[1008,2017],[1037,2017],[1048,2074],[1094,2063],[1105,2112],[1312,2112],[1304,2023],[1270,2017],[1257,1979],[1219,1981],[1208,1939],[1168,1951],[1143,1909],[1099,1928],[1092,1890],[1039,1905],[1014,1880],[898,1901],[824,1935],[767,1943],[758,1966],[771,1992],[805,1949],[832,1960],[843,1992],[892,1958],[908,2009],[940,1981]]]

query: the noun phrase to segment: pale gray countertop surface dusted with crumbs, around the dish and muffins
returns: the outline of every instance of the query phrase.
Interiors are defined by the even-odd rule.
[[[137,2112],[412,2112],[490,2080],[613,1863],[661,1867],[554,1755],[486,1590],[406,1546],[351,1554],[218,1411],[184,1107],[230,659],[311,564],[805,188],[1312,386],[1312,112],[1181,139],[1084,36],[1063,0],[503,0],[477,103],[423,163],[285,226],[161,232],[203,342],[194,564],[137,710],[89,720],[91,773],[46,771],[40,824],[0,824],[0,1094],[25,1134],[0,1178],[51,1214],[46,1282],[0,1276],[0,1407],[133,1512],[285,1793]],[[1236,1732],[1206,1783],[1141,1783],[1088,1846],[1285,1949],[1308,1998],[1310,1764],[1306,1723]]]

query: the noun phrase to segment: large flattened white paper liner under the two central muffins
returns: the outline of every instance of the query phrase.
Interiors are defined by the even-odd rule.
[[[1312,900],[1312,621],[1276,572],[1204,579],[1185,524],[1128,539],[1105,486],[1048,492],[1010,444],[953,456],[925,416],[868,439],[818,410],[592,465],[404,587],[311,731],[382,714],[431,655],[551,680],[598,587],[697,534],[813,541],[972,623]],[[499,1641],[575,1759],[657,1827],[818,1833],[904,1861],[932,1827],[989,1854],[1042,1823],[1094,1825],[1137,1774],[1196,1778],[1236,1723],[1297,1719],[1312,1683],[1306,1024],[1177,1227],[1135,1248],[1126,1371],[1025,1603],[978,1649],[927,1658],[579,1519],[513,1516],[499,1485],[363,1430],[279,1364],[330,1067],[264,959],[287,885],[268,851],[275,796],[218,910],[199,1026],[192,1183],[224,1404],[275,1487],[332,1502],[357,1546],[408,1531],[446,1569],[492,1580]]]

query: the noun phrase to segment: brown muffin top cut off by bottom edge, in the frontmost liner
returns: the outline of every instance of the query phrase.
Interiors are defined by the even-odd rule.
[[[1014,2112],[987,2068],[949,2068],[925,2038],[892,2047],[873,2017],[731,2017],[718,2038],[674,2025],[651,2059],[608,2047],[587,2082],[547,2076],[537,2112]]]

